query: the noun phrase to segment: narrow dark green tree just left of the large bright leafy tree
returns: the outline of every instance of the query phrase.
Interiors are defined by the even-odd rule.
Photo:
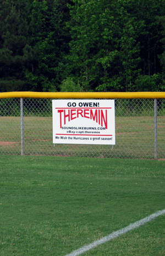
[[[59,12],[58,2],[51,0],[33,1],[29,9],[31,45],[36,55],[32,54],[34,60],[26,61],[25,79],[33,90],[56,91],[61,83],[58,66],[64,55],[63,13]]]

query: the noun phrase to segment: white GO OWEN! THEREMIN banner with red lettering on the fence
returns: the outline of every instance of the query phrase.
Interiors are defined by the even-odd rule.
[[[53,100],[53,143],[115,144],[114,100]]]

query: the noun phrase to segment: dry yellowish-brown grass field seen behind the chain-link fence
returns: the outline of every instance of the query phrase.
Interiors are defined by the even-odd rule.
[[[20,117],[0,117],[0,154],[20,154]],[[164,117],[158,117],[158,158],[164,158]],[[24,117],[24,154],[154,158],[154,118],[116,117],[116,145],[52,143],[52,117]]]

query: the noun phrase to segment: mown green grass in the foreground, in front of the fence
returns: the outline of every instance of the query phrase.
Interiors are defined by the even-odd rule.
[[[0,155],[0,255],[65,256],[165,209],[165,161]],[[165,255],[165,216],[84,256]]]

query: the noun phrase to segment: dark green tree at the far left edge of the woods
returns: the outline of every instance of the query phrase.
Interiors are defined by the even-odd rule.
[[[0,20],[1,91],[19,90],[25,85],[21,58],[29,43],[29,27],[20,9],[11,1],[1,1]]]

